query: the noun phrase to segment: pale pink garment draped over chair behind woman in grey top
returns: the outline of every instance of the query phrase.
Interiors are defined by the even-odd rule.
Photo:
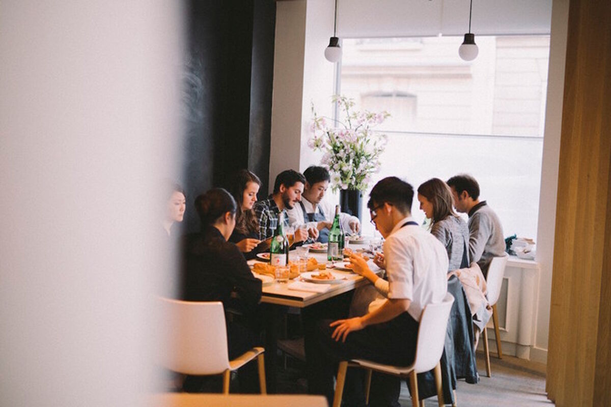
[[[492,308],[486,298],[488,287],[486,287],[486,279],[481,273],[480,266],[473,262],[469,268],[459,268],[449,273],[448,278],[453,275],[458,277],[463,284],[473,315],[473,323],[480,328],[480,331],[483,330],[492,316]]]

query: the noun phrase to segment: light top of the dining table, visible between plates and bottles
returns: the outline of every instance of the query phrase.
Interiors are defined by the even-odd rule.
[[[349,245],[349,248],[351,249],[361,247],[367,247],[367,245]],[[290,251],[290,253],[288,254],[289,258],[291,257],[291,254],[293,254],[293,251]],[[326,253],[309,253],[308,256],[315,258],[316,261],[318,261],[319,263],[327,262]],[[249,263],[252,262],[253,261],[249,261]],[[379,271],[378,266],[373,264],[373,262],[368,262],[368,265],[373,272]],[[311,304],[326,300],[327,298],[335,297],[336,295],[340,295],[349,290],[353,290],[356,287],[369,284],[367,279],[353,272],[344,272],[342,270],[337,270],[334,268],[332,268],[331,270],[333,270],[333,272],[336,274],[345,275],[346,279],[340,283],[330,284],[331,287],[325,292],[320,293],[292,290],[288,288],[288,286],[291,284],[291,281],[289,281],[287,284],[279,284],[274,282],[263,286],[263,295],[261,297],[261,302],[304,308]]]

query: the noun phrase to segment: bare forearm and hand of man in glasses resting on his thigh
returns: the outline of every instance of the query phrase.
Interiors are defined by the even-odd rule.
[[[359,331],[369,325],[390,321],[403,312],[408,311],[411,300],[407,298],[389,299],[375,311],[363,315],[362,317],[340,319],[332,322],[329,326],[335,326],[335,331],[331,335],[332,339],[346,342],[346,336],[353,331]]]

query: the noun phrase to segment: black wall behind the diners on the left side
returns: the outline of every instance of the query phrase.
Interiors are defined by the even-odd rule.
[[[196,196],[235,171],[249,168],[268,189],[276,2],[188,0],[186,12],[181,226],[192,232]]]

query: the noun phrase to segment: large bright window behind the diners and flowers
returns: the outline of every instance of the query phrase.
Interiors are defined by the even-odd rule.
[[[357,107],[387,110],[382,168],[415,188],[426,179],[473,175],[505,236],[536,237],[549,36],[343,40],[340,91]],[[368,195],[367,191],[367,195]],[[365,195],[365,200],[367,200]],[[414,217],[424,215],[414,200]],[[364,232],[372,234],[363,214]]]

